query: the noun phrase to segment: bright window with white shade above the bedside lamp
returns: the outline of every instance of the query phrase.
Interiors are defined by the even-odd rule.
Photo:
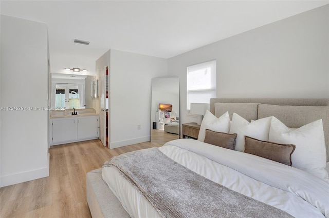
[[[209,103],[216,97],[216,61],[187,67],[187,110],[191,103]]]

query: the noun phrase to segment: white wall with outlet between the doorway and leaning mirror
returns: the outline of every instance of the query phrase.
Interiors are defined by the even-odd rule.
[[[109,66],[109,147],[150,141],[151,80],[167,74],[167,60],[111,49]]]

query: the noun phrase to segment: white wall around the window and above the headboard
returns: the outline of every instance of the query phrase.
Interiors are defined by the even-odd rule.
[[[329,5],[169,58],[180,78],[181,123],[186,67],[217,61],[217,97],[329,97]]]

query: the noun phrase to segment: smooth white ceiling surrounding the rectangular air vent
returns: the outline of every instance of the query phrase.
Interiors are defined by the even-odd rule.
[[[95,75],[96,60],[109,49],[169,58],[328,3],[1,1],[0,12],[47,24],[51,72],[77,67]]]

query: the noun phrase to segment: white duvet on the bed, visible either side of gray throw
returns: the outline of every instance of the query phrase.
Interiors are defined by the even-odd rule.
[[[329,183],[312,174],[191,139],[174,140],[159,149],[209,180],[295,217],[329,218]],[[102,177],[131,217],[160,217],[116,169],[102,168]]]

